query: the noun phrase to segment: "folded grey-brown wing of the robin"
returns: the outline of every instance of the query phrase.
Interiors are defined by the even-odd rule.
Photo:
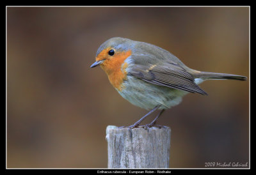
[[[186,72],[179,65],[133,65],[129,75],[158,86],[207,95],[205,91],[195,84],[193,75]]]

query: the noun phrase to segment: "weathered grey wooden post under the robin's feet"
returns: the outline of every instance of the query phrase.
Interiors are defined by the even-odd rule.
[[[108,168],[168,168],[171,129],[107,127]]]

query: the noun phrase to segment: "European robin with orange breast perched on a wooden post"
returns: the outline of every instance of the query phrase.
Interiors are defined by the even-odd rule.
[[[207,95],[198,86],[204,80],[246,80],[241,75],[193,70],[156,45],[120,37],[110,38],[100,45],[91,68],[98,65],[123,98],[150,110],[129,128],[138,127],[143,119],[159,109],[157,117],[144,125],[154,126],[165,109],[178,105],[188,93]]]

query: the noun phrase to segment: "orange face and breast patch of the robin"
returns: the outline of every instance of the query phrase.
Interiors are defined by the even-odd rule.
[[[104,49],[102,52],[106,52],[106,50],[107,49]],[[124,61],[127,57],[131,56],[131,54],[131,50],[126,52],[116,52],[114,56],[108,57],[107,59],[105,58],[106,60],[104,63],[100,65],[107,73],[109,82],[114,86],[114,88],[118,89],[118,91],[122,91],[122,89],[125,88],[122,86],[122,83],[127,78],[127,72],[125,69],[127,68],[128,63],[124,63]]]

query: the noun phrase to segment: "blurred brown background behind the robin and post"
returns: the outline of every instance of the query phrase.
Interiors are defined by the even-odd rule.
[[[106,168],[105,130],[147,113],[90,68],[113,36],[190,68],[249,77],[248,7],[8,7],[7,167]],[[249,80],[212,80],[164,112],[170,167],[249,161]],[[147,119],[149,123],[156,114]]]

